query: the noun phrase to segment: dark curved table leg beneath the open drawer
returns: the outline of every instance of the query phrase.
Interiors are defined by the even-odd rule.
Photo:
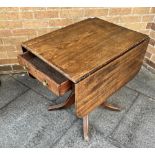
[[[49,105],[48,110],[58,110],[63,108],[68,108],[75,102],[75,94],[71,93],[71,95],[68,97],[68,99],[64,103],[60,103],[57,105]]]

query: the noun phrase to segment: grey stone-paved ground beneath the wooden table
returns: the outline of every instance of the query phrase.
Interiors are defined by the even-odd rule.
[[[155,147],[155,74],[144,67],[109,98],[123,107],[121,112],[97,108],[90,114],[89,142],[74,107],[47,111],[63,97],[26,74],[0,79],[0,147]]]

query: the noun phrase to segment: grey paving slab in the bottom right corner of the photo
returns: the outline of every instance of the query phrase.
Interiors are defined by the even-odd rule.
[[[111,137],[125,147],[154,148],[155,100],[140,95]]]

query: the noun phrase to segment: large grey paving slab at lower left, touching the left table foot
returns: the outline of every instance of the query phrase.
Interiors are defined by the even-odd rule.
[[[61,138],[77,118],[48,104],[30,90],[0,110],[0,147],[50,147]]]

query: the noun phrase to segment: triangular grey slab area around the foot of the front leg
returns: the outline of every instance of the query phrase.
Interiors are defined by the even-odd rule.
[[[91,127],[91,138],[89,142],[84,141],[82,133],[82,121],[78,120],[60,139],[60,141],[54,146],[59,148],[73,147],[73,148],[83,148],[83,147],[94,147],[94,148],[115,148],[114,145],[105,140],[104,136],[97,132],[95,128]]]

